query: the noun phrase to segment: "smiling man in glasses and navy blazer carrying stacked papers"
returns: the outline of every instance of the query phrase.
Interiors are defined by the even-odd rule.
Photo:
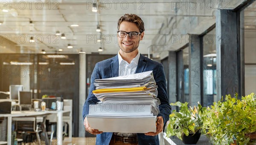
[[[144,22],[135,14],[125,14],[118,20],[117,26],[119,53],[111,59],[98,62],[91,76],[89,95],[83,107],[83,119],[86,131],[97,134],[96,144],[121,144],[129,141],[130,145],[157,145],[159,144],[158,134],[163,131],[164,125],[169,120],[171,106],[169,105],[166,91],[166,79],[163,65],[146,58],[139,53],[138,47],[144,36]],[[117,77],[153,70],[154,79],[158,86],[158,96],[160,99],[160,113],[157,115],[157,132],[146,134],[131,133],[109,133],[90,128],[86,115],[89,112],[89,105],[99,102],[92,91],[95,89],[94,80],[102,78]],[[125,125],[125,124],[124,124]],[[126,139],[123,139],[126,138]],[[127,139],[128,138],[128,139]],[[138,142],[138,143],[137,143]]]

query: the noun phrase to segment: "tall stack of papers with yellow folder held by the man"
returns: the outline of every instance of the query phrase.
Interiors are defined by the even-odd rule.
[[[156,131],[160,100],[152,71],[96,79],[93,94],[100,102],[86,116],[92,128],[103,132]]]

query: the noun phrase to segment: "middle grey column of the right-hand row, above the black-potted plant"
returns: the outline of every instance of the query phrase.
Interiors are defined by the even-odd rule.
[[[199,35],[189,34],[189,103],[201,100],[202,55]]]

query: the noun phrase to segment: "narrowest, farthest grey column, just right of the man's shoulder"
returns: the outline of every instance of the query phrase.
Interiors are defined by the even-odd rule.
[[[168,87],[169,87],[169,103],[175,103],[177,101],[177,69],[176,69],[176,52],[169,51],[168,57],[168,66],[169,66],[169,80],[168,80]]]

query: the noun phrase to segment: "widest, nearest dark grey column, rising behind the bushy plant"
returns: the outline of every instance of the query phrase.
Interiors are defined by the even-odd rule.
[[[241,95],[240,15],[230,9],[216,10],[217,98]]]

